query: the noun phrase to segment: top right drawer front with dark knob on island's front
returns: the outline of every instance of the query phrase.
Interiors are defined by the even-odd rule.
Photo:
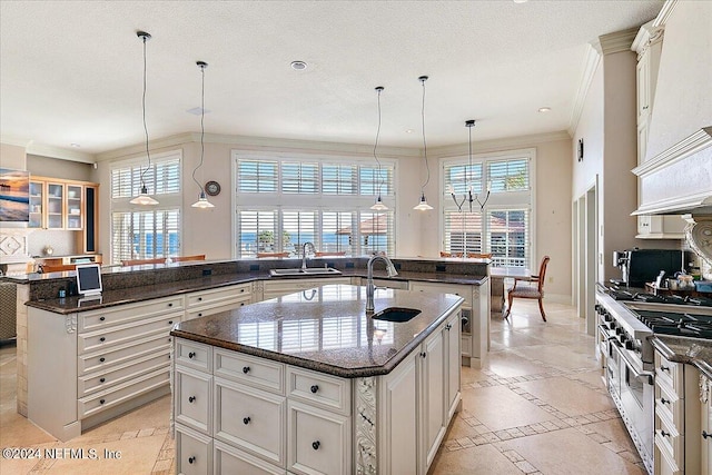
[[[345,416],[350,414],[350,382],[322,373],[287,366],[287,392],[290,399],[301,399]]]

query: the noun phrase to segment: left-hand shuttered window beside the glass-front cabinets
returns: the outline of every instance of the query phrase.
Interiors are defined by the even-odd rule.
[[[180,151],[127,160],[111,168],[111,263],[180,255]],[[141,174],[156,207],[129,204],[139,191]]]

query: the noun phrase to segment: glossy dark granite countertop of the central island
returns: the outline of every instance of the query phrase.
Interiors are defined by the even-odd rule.
[[[366,316],[365,287],[327,285],[177,324],[172,336],[354,378],[388,374],[463,303],[452,294],[377,290],[384,308],[422,310],[406,323]]]

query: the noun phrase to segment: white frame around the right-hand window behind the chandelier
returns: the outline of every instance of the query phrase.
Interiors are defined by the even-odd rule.
[[[520,149],[507,149],[507,150],[497,150],[491,152],[479,152],[473,154],[472,161],[482,162],[483,164],[483,172],[485,174],[484,180],[486,182],[487,161],[502,161],[507,159],[517,159],[517,158],[528,158],[530,160],[530,189],[528,191],[500,191],[493,192],[490,196],[490,199],[484,208],[483,212],[483,229],[482,229],[482,239],[483,244],[487,244],[482,251],[488,253],[488,243],[486,243],[487,236],[487,224],[486,224],[486,214],[487,211],[497,211],[497,210],[511,210],[511,209],[528,209],[528,220],[530,220],[530,249],[528,249],[528,259],[527,259],[527,268],[532,271],[536,270],[535,266],[538,266],[538,261],[536,260],[536,148],[520,148]],[[458,154],[449,157],[443,157],[439,160],[439,172],[441,179],[438,181],[438,191],[441,196],[441,207],[439,207],[439,218],[438,218],[438,232],[439,232],[439,247],[441,249],[445,249],[445,210],[457,210],[457,207],[453,202],[452,197],[445,189],[445,167],[454,164],[468,164],[469,156],[466,154]],[[520,200],[521,196],[524,194],[528,195],[527,200]],[[463,212],[465,206],[463,206]],[[473,211],[474,212],[474,211]],[[478,211],[477,211],[478,212]]]

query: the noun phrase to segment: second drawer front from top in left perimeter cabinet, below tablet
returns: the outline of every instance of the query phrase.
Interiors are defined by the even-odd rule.
[[[80,334],[77,338],[77,350],[80,355],[101,350],[103,348],[135,342],[145,336],[168,335],[174,326],[180,321],[181,314],[162,315],[151,319],[119,325],[98,331]]]

